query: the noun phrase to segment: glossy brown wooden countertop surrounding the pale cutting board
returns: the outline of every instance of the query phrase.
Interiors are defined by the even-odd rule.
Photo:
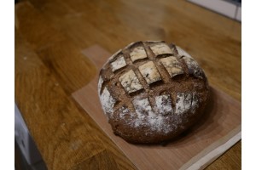
[[[241,23],[186,1],[23,0],[15,4],[15,102],[49,169],[137,169],[71,94],[96,76],[81,53],[174,42],[241,101]],[[90,96],[88,96],[90,97]],[[241,169],[241,141],[207,169]]]

